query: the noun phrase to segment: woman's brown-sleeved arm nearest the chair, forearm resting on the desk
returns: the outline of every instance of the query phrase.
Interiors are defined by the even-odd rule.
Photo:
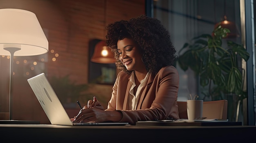
[[[146,95],[141,95],[139,110],[120,110],[123,118],[120,122],[135,124],[137,121],[163,120],[168,117],[179,119],[177,92],[179,75],[176,68],[168,66],[157,73]]]

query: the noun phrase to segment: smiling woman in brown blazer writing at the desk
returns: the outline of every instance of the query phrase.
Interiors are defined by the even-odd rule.
[[[179,119],[179,75],[173,66],[175,48],[169,32],[155,18],[141,15],[106,28],[107,46],[121,71],[108,108],[94,97],[73,122],[128,122]],[[146,35],[146,36],[145,36]]]

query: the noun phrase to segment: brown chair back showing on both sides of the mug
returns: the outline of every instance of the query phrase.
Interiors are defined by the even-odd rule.
[[[177,101],[180,119],[188,119],[186,101]],[[227,100],[204,101],[202,117],[227,119]]]

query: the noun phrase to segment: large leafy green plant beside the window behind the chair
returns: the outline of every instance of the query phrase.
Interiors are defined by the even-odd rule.
[[[177,62],[184,71],[191,68],[199,77],[200,86],[208,88],[207,92],[202,92],[204,98],[220,100],[234,95],[236,104],[247,97],[247,92],[243,91],[245,74],[240,61],[247,61],[249,53],[243,45],[225,40],[227,33],[229,29],[219,25],[211,34],[193,38],[179,51]]]

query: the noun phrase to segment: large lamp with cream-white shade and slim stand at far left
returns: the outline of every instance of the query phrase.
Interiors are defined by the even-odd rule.
[[[9,120],[12,118],[14,56],[48,52],[48,40],[36,15],[22,9],[0,9],[0,55],[10,56]]]

